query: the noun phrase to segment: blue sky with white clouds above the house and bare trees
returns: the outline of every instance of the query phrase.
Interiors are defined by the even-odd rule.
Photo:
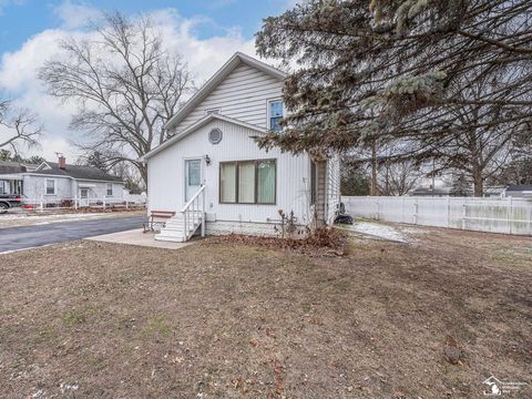
[[[22,150],[53,160],[80,153],[69,131],[73,104],[50,98],[38,79],[44,61],[60,57],[59,41],[91,37],[86,23],[103,11],[150,14],[164,32],[168,48],[183,55],[197,84],[211,76],[236,51],[255,54],[254,33],[262,20],[277,16],[296,0],[0,0],[0,94],[37,114],[44,127],[41,147]],[[2,131],[0,129],[0,139]]]

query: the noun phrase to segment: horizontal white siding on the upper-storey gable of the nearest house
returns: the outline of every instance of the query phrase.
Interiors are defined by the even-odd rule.
[[[268,100],[279,99],[282,92],[283,81],[253,66],[241,64],[175,129],[183,131],[211,110],[218,110],[222,115],[266,129]]]

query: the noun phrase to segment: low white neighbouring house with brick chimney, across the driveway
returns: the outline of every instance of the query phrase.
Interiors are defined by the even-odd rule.
[[[120,177],[96,167],[66,164],[63,156],[58,163],[45,161],[38,166],[0,164],[0,190],[6,194],[22,194],[27,204],[61,204],[73,200],[80,206],[103,201],[121,203],[123,186]]]

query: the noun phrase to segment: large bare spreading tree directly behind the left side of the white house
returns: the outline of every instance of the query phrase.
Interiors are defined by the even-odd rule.
[[[76,144],[109,167],[133,164],[146,183],[137,158],[168,137],[163,125],[193,89],[186,64],[146,17],[106,14],[94,39],[70,38],[61,48],[65,57],[48,61],[39,76],[51,95],[79,105],[71,129],[85,134]]]

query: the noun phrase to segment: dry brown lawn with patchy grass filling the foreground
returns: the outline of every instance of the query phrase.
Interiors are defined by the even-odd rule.
[[[341,258],[209,241],[0,255],[0,397],[480,398],[492,374],[532,397],[531,241],[426,232]]]

